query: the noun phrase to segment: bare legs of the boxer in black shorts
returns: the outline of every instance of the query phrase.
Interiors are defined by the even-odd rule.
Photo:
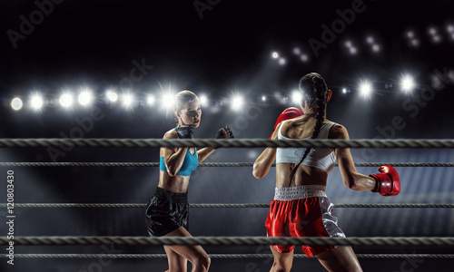
[[[180,227],[172,232],[166,234],[165,236],[183,236],[183,237],[192,237],[192,235],[186,230],[186,228]],[[182,258],[187,259],[192,264],[192,272],[206,272],[210,268],[210,257],[206,254],[205,250],[201,246],[165,246],[165,252],[171,251],[171,256],[167,253],[169,257],[169,271],[170,272],[180,272],[186,271],[186,266],[184,265],[184,270],[178,270],[183,266]],[[179,255],[180,257],[174,257],[172,252]],[[171,259],[172,257],[172,259]],[[172,264],[171,264],[172,262]],[[175,269],[175,270],[173,270]]]

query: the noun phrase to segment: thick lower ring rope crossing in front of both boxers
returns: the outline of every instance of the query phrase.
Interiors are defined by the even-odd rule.
[[[10,239],[0,237],[0,245],[8,245]],[[290,237],[15,237],[18,246],[64,245],[178,245],[178,246],[454,246],[451,237],[351,237],[351,238],[290,238]]]

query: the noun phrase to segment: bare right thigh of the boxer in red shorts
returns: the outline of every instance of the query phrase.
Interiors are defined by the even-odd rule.
[[[351,247],[338,247],[316,255],[328,271],[362,272],[360,262]]]

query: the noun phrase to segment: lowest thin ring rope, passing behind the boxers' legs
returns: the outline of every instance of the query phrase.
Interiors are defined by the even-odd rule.
[[[268,258],[272,254],[209,254],[211,258]],[[2,254],[0,257],[7,257]],[[164,258],[166,254],[15,254],[27,258]],[[296,258],[309,258],[306,254],[294,254]],[[357,254],[360,258],[454,258],[454,254]]]

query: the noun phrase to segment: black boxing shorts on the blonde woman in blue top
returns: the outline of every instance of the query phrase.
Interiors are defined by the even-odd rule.
[[[145,225],[148,234],[153,237],[166,235],[180,227],[188,229],[188,193],[156,188],[146,206]]]

